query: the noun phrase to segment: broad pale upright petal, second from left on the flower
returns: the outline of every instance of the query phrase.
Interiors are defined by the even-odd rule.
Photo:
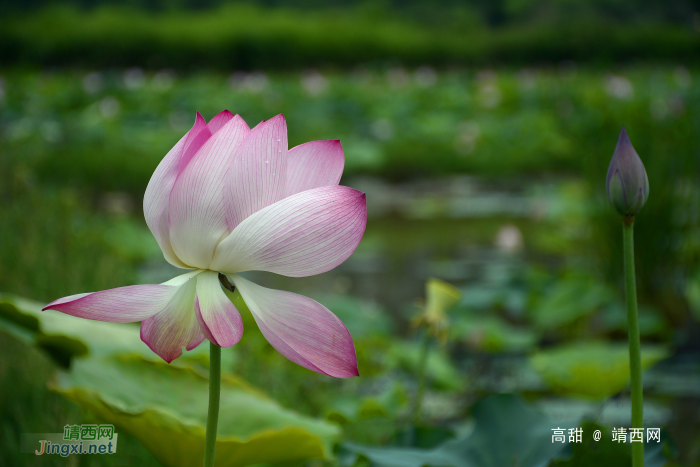
[[[170,241],[186,264],[207,269],[214,248],[229,233],[224,178],[236,147],[250,132],[236,115],[195,154],[170,194]]]

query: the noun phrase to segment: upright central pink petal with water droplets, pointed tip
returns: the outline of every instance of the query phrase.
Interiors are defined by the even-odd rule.
[[[226,176],[229,231],[245,218],[284,198],[287,123],[277,115],[253,128],[236,150]]]

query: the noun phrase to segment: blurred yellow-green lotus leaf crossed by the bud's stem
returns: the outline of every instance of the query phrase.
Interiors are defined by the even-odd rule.
[[[642,369],[668,357],[662,346],[642,348]],[[543,350],[530,357],[532,366],[557,393],[605,398],[629,383],[627,344],[586,342]]]

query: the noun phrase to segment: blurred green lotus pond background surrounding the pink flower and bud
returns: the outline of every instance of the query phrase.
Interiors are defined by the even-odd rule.
[[[630,465],[629,444],[590,442],[630,418],[605,193],[622,125],[650,182],[637,280],[645,421],[664,431],[647,464],[700,465],[699,54],[698,1],[0,0],[0,465],[199,464],[206,345],[168,367],[137,326],[37,306],[177,274],[143,192],[194,112],[222,109],[284,113],[290,147],[340,139],[369,217],[333,271],[249,274],[336,313],[360,378],[288,362],[232,297],[221,465]],[[431,277],[461,298],[425,347]],[[116,455],[19,452],[91,421],[116,425]],[[554,446],[562,423],[589,442]]]

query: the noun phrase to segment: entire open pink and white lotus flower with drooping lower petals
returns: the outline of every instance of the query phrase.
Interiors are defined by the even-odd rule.
[[[290,277],[326,272],[357,248],[367,224],[364,193],[338,186],[339,141],[287,150],[282,115],[252,130],[221,112],[192,129],[156,168],[143,199],[165,259],[190,272],[58,299],[44,309],[81,318],[141,323],[141,339],[168,363],[206,338],[236,344],[243,323],[219,272],[238,288],[268,342],[289,360],[335,377],[357,376],[350,333],[320,303],[254,284],[237,273]]]

